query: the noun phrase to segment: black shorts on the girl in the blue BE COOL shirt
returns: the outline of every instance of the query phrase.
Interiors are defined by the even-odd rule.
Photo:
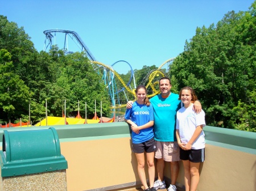
[[[131,146],[135,153],[154,152],[156,150],[154,137],[143,143],[133,143]]]

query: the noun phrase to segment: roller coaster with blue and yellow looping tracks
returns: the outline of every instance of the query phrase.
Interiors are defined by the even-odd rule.
[[[109,96],[112,102],[112,108],[121,108],[125,107],[125,105],[121,104],[120,101],[120,94],[124,94],[126,101],[129,100],[127,97],[127,93],[133,95],[135,97],[135,77],[134,77],[134,71],[131,67],[130,63],[126,61],[117,61],[113,63],[111,66],[105,65],[104,63],[98,62],[96,58],[93,56],[93,54],[90,52],[90,50],[87,48],[85,43],[82,41],[81,37],[75,32],[75,31],[68,31],[63,29],[49,29],[47,31],[43,32],[44,35],[46,35],[46,39],[44,40],[44,51],[47,51],[52,48],[53,45],[56,44],[56,33],[63,33],[64,34],[64,45],[63,50],[65,54],[73,53],[69,51],[69,44],[68,39],[71,39],[73,43],[76,44],[78,50],[77,52],[85,52],[87,57],[89,58],[90,62],[92,64],[95,64],[97,67],[97,73],[102,76],[102,80],[104,80],[104,83],[106,85],[106,89],[108,89]],[[53,41],[54,40],[54,41]],[[62,41],[63,42],[63,41]],[[58,44],[59,45],[59,44]],[[147,88],[151,88],[152,94],[148,95],[148,97],[152,97],[156,94],[159,94],[158,90],[158,81],[155,81],[155,78],[158,79],[160,77],[164,77],[164,74],[160,69],[164,65],[169,65],[172,61],[174,61],[174,58],[170,58],[169,60],[165,61],[158,67],[156,70],[151,70],[142,80],[142,84],[144,84]],[[113,67],[117,64],[125,63],[130,67],[130,79],[128,82],[124,82],[124,80],[120,77],[120,75],[113,69]],[[119,86],[117,86],[117,80],[119,82]],[[131,87],[131,82],[133,81],[133,88]],[[145,84],[147,82],[147,84]],[[121,84],[120,84],[121,83]]]

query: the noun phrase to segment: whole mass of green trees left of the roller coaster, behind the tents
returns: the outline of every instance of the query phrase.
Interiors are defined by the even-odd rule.
[[[29,120],[30,103],[33,124],[46,116],[62,116],[64,100],[67,115],[75,117],[80,102],[80,115],[108,116],[110,101],[100,76],[94,71],[85,53],[65,55],[53,47],[49,53],[36,52],[23,28],[0,15],[0,118],[1,122]]]

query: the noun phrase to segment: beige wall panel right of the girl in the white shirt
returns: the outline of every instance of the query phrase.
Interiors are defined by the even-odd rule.
[[[256,190],[256,155],[212,145],[205,148],[199,191]]]

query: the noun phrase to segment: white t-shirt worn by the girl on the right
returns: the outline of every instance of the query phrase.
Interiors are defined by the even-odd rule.
[[[202,110],[199,114],[193,111],[193,104],[188,108],[182,107],[177,111],[176,129],[179,129],[180,140],[182,143],[188,143],[196,127],[205,126],[205,113]],[[201,149],[205,147],[204,131],[193,142],[192,149]]]

